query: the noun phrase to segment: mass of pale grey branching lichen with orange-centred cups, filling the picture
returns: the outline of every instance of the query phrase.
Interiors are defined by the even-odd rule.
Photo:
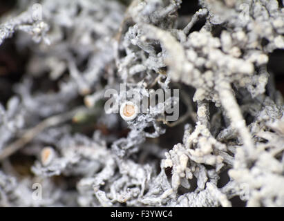
[[[283,5],[18,1],[0,24],[0,48],[27,57],[0,100],[0,206],[284,206],[283,97],[267,68]],[[179,97],[143,113],[125,99],[159,89]]]

